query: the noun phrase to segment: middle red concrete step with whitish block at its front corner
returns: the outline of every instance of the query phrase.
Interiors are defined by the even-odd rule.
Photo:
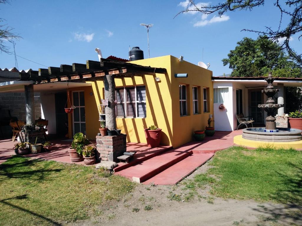
[[[172,149],[129,168],[115,172],[115,174],[142,183],[192,154],[191,150],[179,152]]]

